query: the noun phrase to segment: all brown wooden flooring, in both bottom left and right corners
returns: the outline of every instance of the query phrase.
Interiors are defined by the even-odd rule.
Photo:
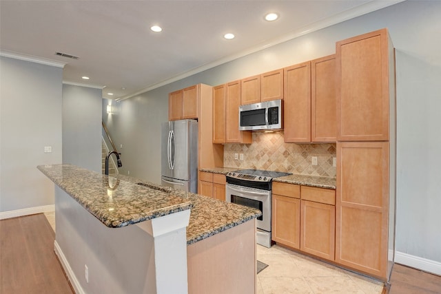
[[[72,294],[43,213],[0,220],[0,293]],[[440,294],[441,277],[395,264],[389,294]]]

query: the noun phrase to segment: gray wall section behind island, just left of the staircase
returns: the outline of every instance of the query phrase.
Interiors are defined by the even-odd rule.
[[[63,84],[63,163],[101,173],[101,89]]]

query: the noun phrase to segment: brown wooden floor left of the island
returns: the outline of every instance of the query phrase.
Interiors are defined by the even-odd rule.
[[[72,294],[43,213],[0,220],[0,293]]]

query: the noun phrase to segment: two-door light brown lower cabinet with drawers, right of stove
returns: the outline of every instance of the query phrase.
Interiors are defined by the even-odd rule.
[[[273,182],[272,204],[272,240],[334,261],[335,190]]]

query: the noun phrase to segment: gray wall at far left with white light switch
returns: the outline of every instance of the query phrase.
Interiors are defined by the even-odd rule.
[[[0,69],[0,212],[52,205],[37,165],[61,163],[63,70],[4,56]]]

